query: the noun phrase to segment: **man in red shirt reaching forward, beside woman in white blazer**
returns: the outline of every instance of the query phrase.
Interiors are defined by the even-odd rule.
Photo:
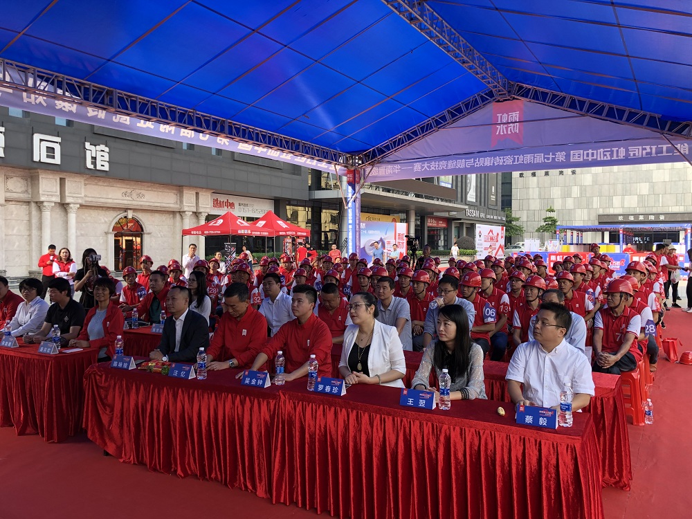
[[[269,339],[257,354],[250,368],[257,371],[276,356],[279,350],[286,357],[286,382],[307,376],[307,363],[310,355],[315,355],[319,365],[319,376],[331,376],[331,332],[318,316],[313,313],[317,301],[317,291],[312,286],[295,286],[291,295],[291,311],[295,319],[286,322]],[[240,378],[242,373],[237,374]]]

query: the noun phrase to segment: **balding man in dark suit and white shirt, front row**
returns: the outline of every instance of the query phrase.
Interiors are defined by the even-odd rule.
[[[163,325],[158,349],[149,354],[152,361],[195,362],[199,348],[209,346],[207,320],[189,306],[190,291],[185,286],[172,286],[166,297],[172,316]]]

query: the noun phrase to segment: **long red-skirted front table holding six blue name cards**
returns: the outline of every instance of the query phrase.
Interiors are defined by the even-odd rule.
[[[236,373],[182,381],[93,366],[84,426],[122,461],[333,516],[603,517],[587,413],[570,429],[539,430],[516,425],[507,403],[421,412],[401,408],[396,388],[327,397],[305,379],[261,390]]]

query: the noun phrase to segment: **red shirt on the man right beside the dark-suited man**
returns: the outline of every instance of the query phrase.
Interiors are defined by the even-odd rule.
[[[237,320],[224,312],[214,332],[207,353],[215,361],[235,358],[238,366],[248,369],[253,365],[257,352],[266,343],[266,319],[262,313],[248,306],[245,315]]]

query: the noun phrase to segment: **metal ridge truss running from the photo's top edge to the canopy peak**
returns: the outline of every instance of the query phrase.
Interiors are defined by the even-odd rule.
[[[420,0],[383,0],[419,33],[450,55],[464,69],[495,92],[498,99],[509,97],[511,82],[457,33],[437,12]]]

